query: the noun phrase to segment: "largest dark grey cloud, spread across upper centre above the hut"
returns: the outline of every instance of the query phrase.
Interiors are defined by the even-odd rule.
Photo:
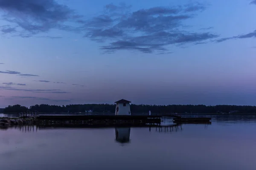
[[[105,53],[118,50],[143,53],[164,53],[167,45],[197,43],[218,37],[209,32],[187,32],[180,30],[183,21],[195,17],[206,6],[193,3],[185,6],[153,7],[130,11],[130,6],[109,4],[103,14],[91,20],[78,22],[91,40],[109,42],[100,47]],[[209,28],[208,28],[209,29]]]

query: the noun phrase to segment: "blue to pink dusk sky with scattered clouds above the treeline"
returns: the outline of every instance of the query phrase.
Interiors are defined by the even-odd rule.
[[[256,105],[256,0],[0,0],[0,108]]]

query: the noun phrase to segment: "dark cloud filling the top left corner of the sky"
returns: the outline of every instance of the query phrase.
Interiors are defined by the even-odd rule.
[[[2,20],[28,34],[47,32],[52,28],[75,31],[76,28],[65,23],[81,17],[56,0],[0,0],[0,8]]]

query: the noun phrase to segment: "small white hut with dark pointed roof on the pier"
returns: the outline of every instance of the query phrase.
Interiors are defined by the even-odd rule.
[[[121,99],[115,103],[116,103],[115,115],[131,115],[130,101]]]

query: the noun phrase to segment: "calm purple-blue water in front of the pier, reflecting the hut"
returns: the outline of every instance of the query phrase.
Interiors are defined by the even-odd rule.
[[[216,117],[212,125],[182,125],[172,132],[36,129],[0,129],[1,170],[256,170],[255,117]]]

